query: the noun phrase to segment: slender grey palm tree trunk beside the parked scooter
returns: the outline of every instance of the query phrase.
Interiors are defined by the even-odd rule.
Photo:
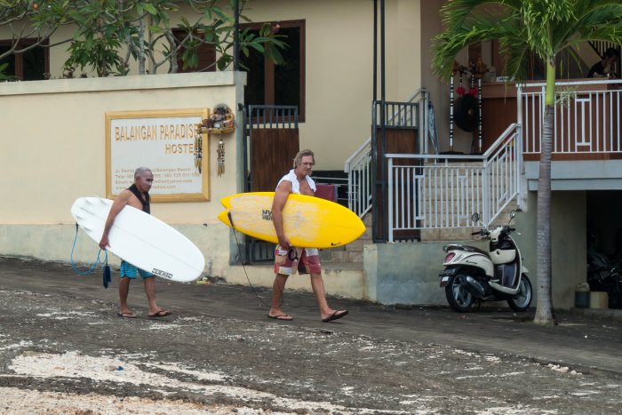
[[[554,66],[546,66],[545,116],[540,140],[538,176],[538,217],[536,219],[536,261],[538,264],[538,304],[534,323],[555,325],[553,311],[553,274],[551,267],[551,152],[554,128]]]

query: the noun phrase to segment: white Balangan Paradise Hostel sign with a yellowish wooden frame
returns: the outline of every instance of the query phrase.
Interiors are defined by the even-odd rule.
[[[209,143],[206,135],[195,141],[208,116],[207,108],[107,112],[107,197],[130,187],[136,168],[146,166],[154,173],[154,202],[209,200]],[[196,142],[203,148],[195,148]],[[201,170],[195,165],[198,151],[204,155]]]

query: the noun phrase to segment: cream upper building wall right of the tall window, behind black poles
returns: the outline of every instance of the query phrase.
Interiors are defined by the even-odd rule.
[[[421,3],[386,2],[387,100],[407,100],[421,86]],[[434,8],[426,10],[434,14]],[[315,150],[316,170],[342,170],[371,132],[373,1],[255,0],[244,14],[257,22],[306,21],[307,114],[299,126],[300,147]],[[62,28],[52,43],[68,33]],[[67,44],[52,49],[53,78],[62,76],[66,49]],[[131,68],[135,74],[135,62]],[[167,70],[163,66],[158,73]]]

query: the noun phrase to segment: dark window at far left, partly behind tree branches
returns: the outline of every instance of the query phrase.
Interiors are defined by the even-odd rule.
[[[36,44],[36,39],[21,39],[20,49]],[[47,44],[47,42],[45,42]],[[11,50],[11,40],[0,40],[0,54]],[[16,76],[20,81],[38,81],[46,79],[50,73],[50,50],[36,46],[23,53],[13,53],[0,60],[0,64],[9,63],[4,75]]]

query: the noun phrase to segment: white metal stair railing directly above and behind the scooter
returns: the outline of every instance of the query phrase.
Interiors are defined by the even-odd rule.
[[[490,224],[520,191],[521,127],[482,156],[388,154],[388,240],[397,231]]]

